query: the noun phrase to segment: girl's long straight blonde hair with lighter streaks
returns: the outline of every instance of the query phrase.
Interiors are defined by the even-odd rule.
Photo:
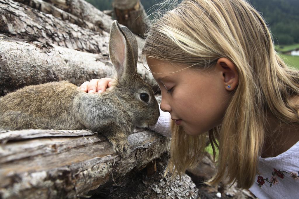
[[[222,124],[209,131],[219,155],[217,172],[208,184],[227,179],[226,183],[249,188],[267,136],[267,115],[299,124],[298,107],[290,102],[299,94],[298,71],[277,55],[269,28],[245,0],[182,1],[152,24],[142,54],[203,70],[221,57],[234,63],[239,85]],[[172,126],[169,168],[181,174],[194,166],[204,150],[205,136],[189,136]]]

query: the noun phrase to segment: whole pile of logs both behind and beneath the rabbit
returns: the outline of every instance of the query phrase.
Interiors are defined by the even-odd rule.
[[[113,77],[111,22],[83,0],[0,0],[0,96],[49,81]],[[138,72],[153,84],[141,59]],[[120,159],[89,130],[0,131],[0,198],[129,198],[124,189],[135,190],[131,198],[198,198],[187,175],[163,178],[169,138],[135,129],[128,140],[132,154]]]

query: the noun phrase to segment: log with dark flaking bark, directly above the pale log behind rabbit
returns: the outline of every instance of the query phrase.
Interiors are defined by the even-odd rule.
[[[28,42],[55,44],[91,53],[106,53],[108,34],[62,21],[12,0],[0,0],[0,33]]]

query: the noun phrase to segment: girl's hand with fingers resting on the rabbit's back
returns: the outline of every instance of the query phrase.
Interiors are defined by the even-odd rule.
[[[111,81],[111,78],[91,79],[89,82],[81,84],[79,88],[86,93],[101,93],[111,86]]]

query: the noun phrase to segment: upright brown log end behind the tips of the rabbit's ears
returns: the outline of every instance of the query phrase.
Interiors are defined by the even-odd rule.
[[[149,20],[140,0],[114,0],[112,6],[120,24],[128,27],[136,35],[144,37]]]

